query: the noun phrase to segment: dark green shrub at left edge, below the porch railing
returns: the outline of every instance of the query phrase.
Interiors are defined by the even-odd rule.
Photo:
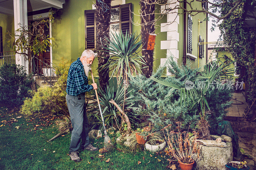
[[[0,102],[5,105],[21,105],[29,97],[33,80],[23,66],[6,64],[0,68]]]

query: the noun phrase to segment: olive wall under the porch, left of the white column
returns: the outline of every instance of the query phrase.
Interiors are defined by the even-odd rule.
[[[11,32],[14,34],[14,18],[13,16],[0,14],[0,26],[3,30],[3,49],[4,51],[12,51],[7,44],[7,35],[6,33]]]

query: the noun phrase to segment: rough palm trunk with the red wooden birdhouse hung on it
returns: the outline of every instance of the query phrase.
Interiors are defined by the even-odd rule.
[[[149,0],[149,3],[152,3],[151,0]],[[149,5],[145,4],[140,1],[140,10],[142,11],[141,17],[140,17],[140,24],[141,24],[141,40],[142,40],[142,46],[146,43],[146,33],[155,33],[155,4]],[[146,62],[146,65],[142,65],[142,73],[149,78],[152,75],[153,71],[153,55],[154,51],[152,50],[142,50],[142,56],[143,59]]]

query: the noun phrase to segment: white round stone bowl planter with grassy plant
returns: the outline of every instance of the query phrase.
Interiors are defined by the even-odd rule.
[[[164,149],[166,142],[163,138],[163,133],[155,132],[148,136],[148,140],[145,144],[146,150],[150,152],[159,152]]]

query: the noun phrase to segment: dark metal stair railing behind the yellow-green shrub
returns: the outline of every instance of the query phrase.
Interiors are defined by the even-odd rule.
[[[55,74],[55,70],[52,66],[55,66],[48,60],[44,58],[37,58],[36,56],[32,59],[32,73],[38,78],[42,78],[44,82],[49,83],[51,86],[58,79],[58,76]]]

